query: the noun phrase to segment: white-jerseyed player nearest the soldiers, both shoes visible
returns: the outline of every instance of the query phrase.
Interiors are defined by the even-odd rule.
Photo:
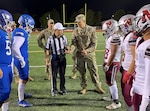
[[[106,108],[116,109],[121,107],[121,103],[118,100],[118,88],[116,83],[116,75],[120,69],[121,36],[118,33],[118,23],[113,19],[106,20],[102,25],[102,30],[105,31],[105,35],[107,36],[103,70],[106,74],[106,81],[113,100],[113,103],[106,106]],[[103,100],[108,99],[108,97],[103,97]]]

